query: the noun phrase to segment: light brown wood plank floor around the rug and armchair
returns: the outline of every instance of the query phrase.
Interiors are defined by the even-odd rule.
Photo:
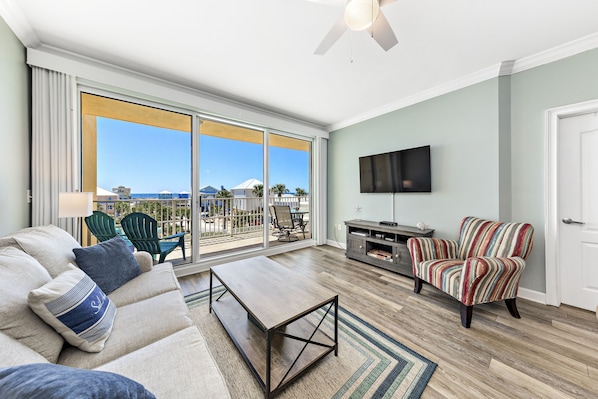
[[[272,256],[339,293],[339,303],[438,363],[423,398],[598,398],[598,320],[593,312],[517,300],[474,307],[470,329],[459,304],[413,280],[345,258],[330,246]],[[208,288],[209,273],[180,278],[185,295]]]

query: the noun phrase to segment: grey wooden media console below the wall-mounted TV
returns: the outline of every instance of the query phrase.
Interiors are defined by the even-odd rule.
[[[434,230],[388,226],[368,220],[347,220],[347,258],[413,277],[407,240],[432,237]]]

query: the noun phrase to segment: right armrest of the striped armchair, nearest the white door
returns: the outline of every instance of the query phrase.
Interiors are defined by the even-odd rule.
[[[524,269],[525,260],[520,257],[466,259],[458,299],[470,306],[516,298]]]

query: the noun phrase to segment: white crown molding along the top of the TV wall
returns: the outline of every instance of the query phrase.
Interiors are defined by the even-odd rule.
[[[492,79],[497,76],[510,76],[596,48],[598,48],[598,33],[573,40],[528,57],[523,57],[517,60],[503,61],[498,65],[493,65],[489,68],[482,69],[452,82],[424,90],[409,97],[402,98],[398,101],[394,101],[390,104],[362,113],[355,117],[333,123],[327,127],[327,130],[330,132],[339,130],[392,111],[397,111],[401,108],[406,108],[410,105],[430,100],[434,97],[438,97],[452,91],[463,89],[467,86],[480,83],[487,79]]]

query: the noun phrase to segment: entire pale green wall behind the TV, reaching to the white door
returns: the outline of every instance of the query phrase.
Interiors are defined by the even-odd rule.
[[[499,77],[332,132],[328,238],[347,219],[391,219],[390,194],[360,194],[357,158],[432,146],[431,194],[396,194],[395,220],[456,238],[463,216],[526,221],[536,230],[521,286],[546,291],[545,112],[598,98],[598,49]],[[355,207],[361,206],[361,212]]]

